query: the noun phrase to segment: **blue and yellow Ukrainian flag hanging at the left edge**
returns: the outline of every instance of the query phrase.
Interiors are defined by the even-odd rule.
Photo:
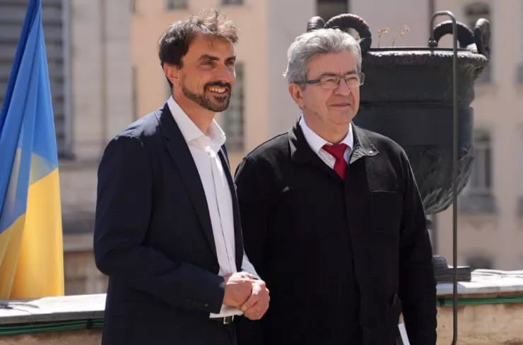
[[[42,4],[30,0],[0,112],[0,300],[64,294]]]

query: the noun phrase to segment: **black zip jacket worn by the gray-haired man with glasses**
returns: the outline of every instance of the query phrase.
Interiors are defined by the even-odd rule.
[[[245,250],[271,291],[264,344],[390,345],[401,305],[411,344],[435,344],[432,254],[409,161],[394,141],[353,129],[344,182],[298,124],[237,170]]]

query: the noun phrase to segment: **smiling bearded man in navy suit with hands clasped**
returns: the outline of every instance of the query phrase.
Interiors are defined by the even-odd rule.
[[[268,308],[213,119],[235,84],[236,41],[217,11],[171,25],[159,56],[172,97],[105,149],[94,235],[109,276],[102,344],[234,345],[240,315]]]

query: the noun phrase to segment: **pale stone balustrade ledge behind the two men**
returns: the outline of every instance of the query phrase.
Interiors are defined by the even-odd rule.
[[[452,283],[437,286],[437,344],[452,343]],[[523,345],[523,271],[458,284],[458,344]],[[0,345],[100,344],[105,294],[0,301]]]

